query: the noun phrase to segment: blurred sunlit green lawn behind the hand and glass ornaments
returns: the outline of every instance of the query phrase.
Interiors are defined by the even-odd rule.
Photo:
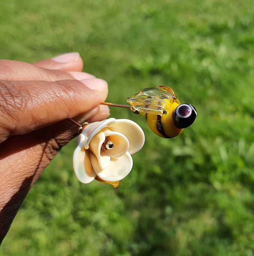
[[[30,191],[0,255],[254,255],[252,0],[1,1],[0,58],[78,51],[108,101],[158,84],[198,111],[171,140],[141,116],[131,174],[84,185],[63,148]]]

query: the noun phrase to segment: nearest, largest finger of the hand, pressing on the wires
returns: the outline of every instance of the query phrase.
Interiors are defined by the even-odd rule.
[[[98,107],[107,98],[102,79],[1,81],[0,143]]]

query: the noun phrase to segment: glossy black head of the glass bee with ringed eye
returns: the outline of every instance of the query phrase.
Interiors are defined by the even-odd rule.
[[[197,116],[196,109],[191,104],[180,104],[173,111],[173,121],[177,128],[186,128],[194,122]]]

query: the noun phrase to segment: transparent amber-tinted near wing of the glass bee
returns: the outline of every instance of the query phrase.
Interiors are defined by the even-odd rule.
[[[127,102],[134,110],[160,116],[163,115],[168,104],[166,100],[173,102],[173,96],[160,88],[146,88],[138,91],[131,98],[127,98]]]

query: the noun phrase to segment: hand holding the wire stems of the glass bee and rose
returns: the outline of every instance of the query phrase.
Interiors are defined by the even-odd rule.
[[[83,73],[78,53],[34,64],[0,60],[0,243],[21,203],[77,122],[104,120],[104,80]],[[79,81],[80,80],[80,81]]]

